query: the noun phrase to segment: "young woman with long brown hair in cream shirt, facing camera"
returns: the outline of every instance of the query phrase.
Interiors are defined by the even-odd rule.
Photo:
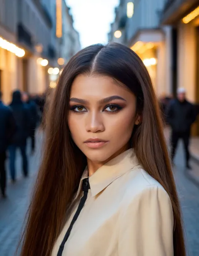
[[[158,103],[136,53],[81,50],[48,118],[21,256],[185,256]]]

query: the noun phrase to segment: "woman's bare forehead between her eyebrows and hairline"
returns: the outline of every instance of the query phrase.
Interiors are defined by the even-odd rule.
[[[120,95],[131,99],[135,97],[128,88],[116,84],[111,77],[86,74],[77,76],[73,81],[70,97],[105,98],[111,95]]]

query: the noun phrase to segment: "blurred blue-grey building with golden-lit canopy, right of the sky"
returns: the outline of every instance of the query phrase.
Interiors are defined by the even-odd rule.
[[[123,43],[139,55],[158,96],[171,93],[170,28],[159,25],[163,6],[164,0],[121,0],[108,36],[109,41]]]

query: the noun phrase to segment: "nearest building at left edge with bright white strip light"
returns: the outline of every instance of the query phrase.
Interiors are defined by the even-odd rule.
[[[16,9],[16,1],[0,0],[0,90],[6,103],[10,92],[20,84],[17,63],[21,57],[17,53],[21,47],[17,42]]]

